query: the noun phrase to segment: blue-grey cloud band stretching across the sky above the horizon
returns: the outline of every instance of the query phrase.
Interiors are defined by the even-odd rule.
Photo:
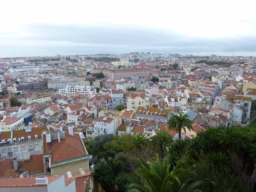
[[[225,30],[225,29],[223,29]],[[131,27],[81,27],[50,24],[23,26],[23,31],[31,36],[17,36],[20,41],[41,42],[37,46],[19,47],[0,45],[0,56],[93,54],[150,51],[159,53],[211,54],[254,54],[256,37],[200,38],[184,36],[172,31],[156,28]],[[1,32],[0,32],[1,40]],[[51,46],[42,42],[52,42]],[[62,45],[56,42],[65,42]],[[4,55],[7,54],[7,55]]]

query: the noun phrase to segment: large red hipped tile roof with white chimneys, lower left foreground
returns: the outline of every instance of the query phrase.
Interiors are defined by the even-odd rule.
[[[66,138],[60,139],[60,142],[52,140],[49,143],[46,143],[46,135],[44,135],[44,154],[50,151],[52,163],[88,155],[77,133],[74,133],[74,136],[66,133]]]

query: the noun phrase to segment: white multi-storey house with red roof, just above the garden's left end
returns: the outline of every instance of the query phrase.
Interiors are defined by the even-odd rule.
[[[100,116],[96,122],[94,123],[94,135],[105,135],[105,134],[116,134],[117,130],[115,130],[115,119]]]

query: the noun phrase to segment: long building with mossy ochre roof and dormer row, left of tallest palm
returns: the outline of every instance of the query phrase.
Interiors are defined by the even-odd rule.
[[[147,119],[149,121],[157,121],[167,123],[172,117],[169,109],[138,107],[135,113],[136,119]]]

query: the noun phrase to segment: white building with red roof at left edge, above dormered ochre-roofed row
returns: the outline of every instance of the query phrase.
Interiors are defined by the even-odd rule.
[[[11,117],[4,116],[0,122],[0,131],[14,131],[25,128],[24,118],[22,117]]]

